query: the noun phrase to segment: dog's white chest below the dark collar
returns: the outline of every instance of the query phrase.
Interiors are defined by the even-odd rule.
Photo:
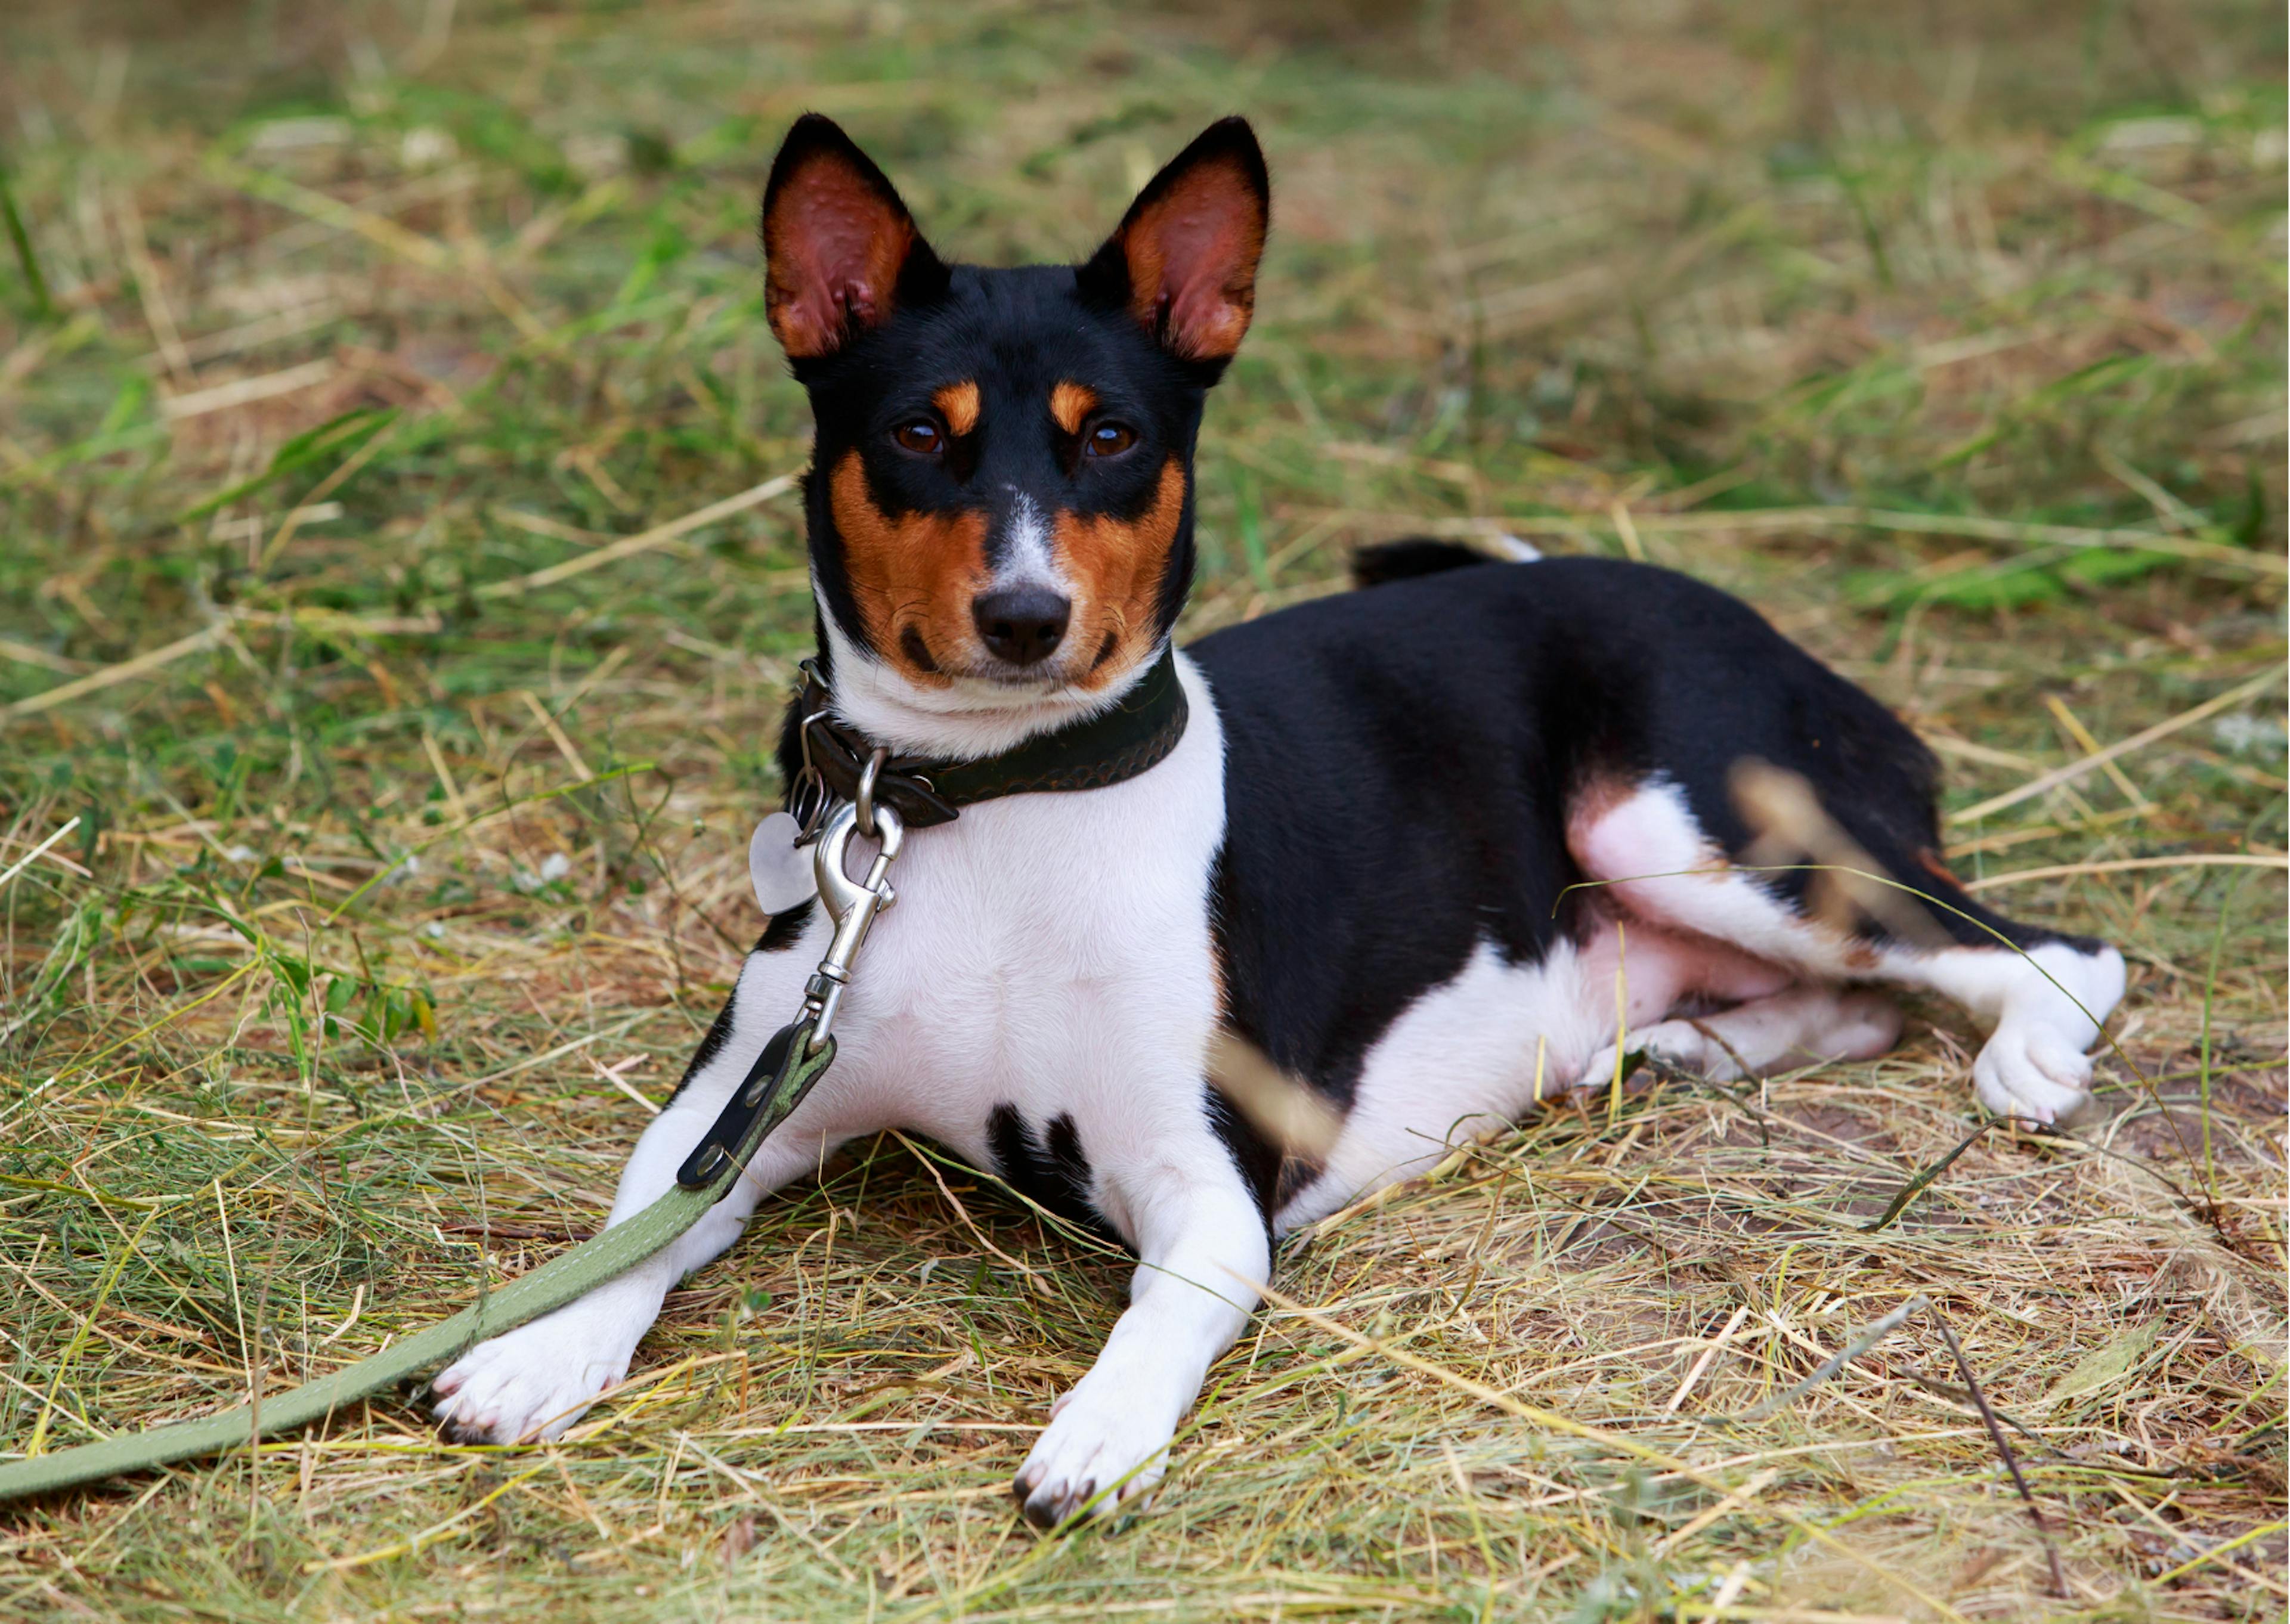
[[[1200,1111],[1223,740],[1200,676],[1179,669],[1191,722],[1154,772],[982,802],[907,836],[838,1026],[856,1109],[971,1159],[1003,1104],[1072,1115],[1106,1150],[1163,1090]]]

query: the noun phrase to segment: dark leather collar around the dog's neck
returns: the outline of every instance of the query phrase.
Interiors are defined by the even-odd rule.
[[[820,797],[859,799],[859,779],[877,744],[834,717],[834,694],[813,660],[804,662],[804,687],[795,703],[802,717],[804,776],[788,793],[788,811],[808,827]],[[927,829],[953,822],[964,806],[1003,795],[1101,790],[1166,760],[1184,738],[1184,683],[1177,680],[1177,651],[1168,646],[1111,708],[1021,740],[998,756],[884,756],[872,795],[895,809],[909,829]]]

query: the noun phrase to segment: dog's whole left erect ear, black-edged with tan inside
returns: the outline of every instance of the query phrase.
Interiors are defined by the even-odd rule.
[[[763,188],[763,309],[788,360],[834,355],[900,302],[946,289],[946,266],[891,181],[843,133],[806,112]]]

